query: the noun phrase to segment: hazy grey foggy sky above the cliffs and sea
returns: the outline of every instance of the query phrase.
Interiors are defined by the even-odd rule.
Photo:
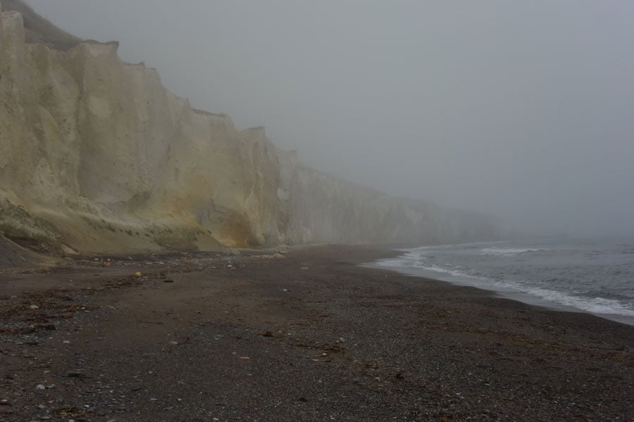
[[[634,234],[634,1],[27,2],[320,170],[519,229]]]

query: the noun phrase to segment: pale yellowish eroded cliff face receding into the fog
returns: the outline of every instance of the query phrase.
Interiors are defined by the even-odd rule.
[[[0,46],[0,234],[82,252],[495,236],[489,217],[335,179],[192,109],[115,42],[27,43],[8,11]]]

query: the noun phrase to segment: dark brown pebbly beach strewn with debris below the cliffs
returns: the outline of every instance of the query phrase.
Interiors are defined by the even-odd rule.
[[[0,272],[0,421],[634,420],[634,326],[281,252]]]

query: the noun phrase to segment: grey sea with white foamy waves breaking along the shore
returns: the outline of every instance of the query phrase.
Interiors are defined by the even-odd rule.
[[[494,290],[634,325],[634,237],[548,238],[400,250],[373,267]]]

